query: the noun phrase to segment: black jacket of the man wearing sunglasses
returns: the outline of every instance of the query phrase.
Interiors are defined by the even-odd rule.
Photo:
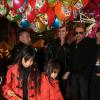
[[[89,74],[96,62],[96,39],[84,38],[70,47],[70,71],[80,75]]]

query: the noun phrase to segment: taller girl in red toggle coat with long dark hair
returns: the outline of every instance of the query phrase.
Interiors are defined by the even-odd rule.
[[[3,86],[7,100],[37,100],[39,73],[34,59],[33,47],[27,46],[17,57],[16,64],[9,67]]]

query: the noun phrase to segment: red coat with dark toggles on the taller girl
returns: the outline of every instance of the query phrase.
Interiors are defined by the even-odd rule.
[[[19,100],[17,97],[9,97],[8,90],[12,90],[19,97],[23,98],[22,79],[19,79],[18,65],[14,65],[8,69],[6,76],[6,84],[3,86],[3,96],[7,100]],[[23,100],[23,99],[21,99]],[[38,100],[35,96],[34,81],[30,81],[28,77],[28,100]]]

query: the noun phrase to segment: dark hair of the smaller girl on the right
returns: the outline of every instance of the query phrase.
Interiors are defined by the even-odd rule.
[[[60,71],[60,63],[55,59],[50,59],[46,62],[44,72],[48,76],[48,80],[51,81],[51,73],[54,71]]]

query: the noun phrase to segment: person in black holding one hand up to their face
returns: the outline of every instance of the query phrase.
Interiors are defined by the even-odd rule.
[[[60,89],[65,100],[66,100],[67,78],[69,75],[68,72],[69,46],[67,44],[67,34],[68,34],[68,29],[67,26],[64,24],[58,29],[58,37],[48,43],[46,50],[47,61],[49,59],[56,59],[57,61],[60,62],[61,71],[58,78],[60,80]]]

